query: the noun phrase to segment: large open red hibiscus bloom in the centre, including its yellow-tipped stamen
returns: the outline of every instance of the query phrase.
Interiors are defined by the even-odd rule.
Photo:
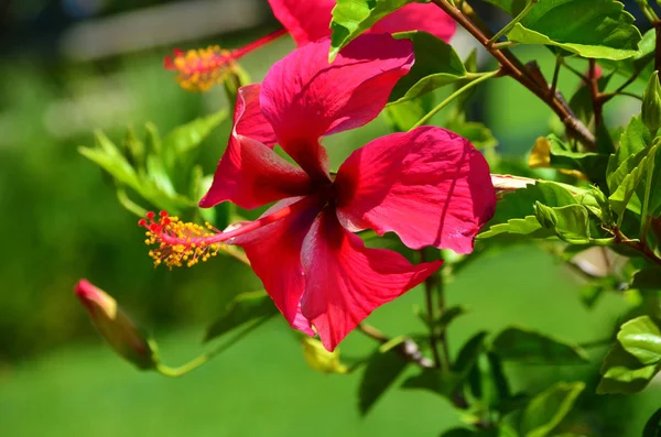
[[[375,308],[423,282],[441,261],[411,264],[369,249],[353,232],[395,232],[412,249],[473,250],[496,196],[485,159],[465,139],[423,127],[356,150],[337,174],[319,140],[375,119],[413,64],[412,44],[364,35],[328,64],[328,40],[278,62],[263,83],[242,87],[234,129],[201,206],[277,201],[256,221],[208,233],[167,217],[142,222],[156,262],[195,263],[218,244],[242,247],[286,320],[314,326],[333,350]],[[274,151],[280,146],[299,164]]]

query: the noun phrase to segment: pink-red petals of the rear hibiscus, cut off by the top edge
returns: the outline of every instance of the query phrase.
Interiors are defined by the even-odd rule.
[[[275,18],[303,46],[330,36],[330,19],[335,0],[269,0]],[[448,42],[456,31],[455,21],[435,4],[407,4],[379,20],[371,32],[395,33],[425,31]]]

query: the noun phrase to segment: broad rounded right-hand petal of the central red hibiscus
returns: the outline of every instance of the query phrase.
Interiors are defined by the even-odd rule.
[[[484,156],[468,140],[435,127],[370,142],[345,161],[335,184],[343,225],[393,231],[412,249],[470,253],[496,208]]]

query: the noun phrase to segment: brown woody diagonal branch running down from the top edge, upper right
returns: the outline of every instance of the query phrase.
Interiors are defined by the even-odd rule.
[[[549,94],[549,86],[541,87],[532,80],[521,62],[509,51],[489,47],[490,32],[486,29],[480,29],[476,25],[467,14],[473,14],[470,7],[464,2],[462,10],[453,7],[447,0],[432,0],[434,4],[441,8],[445,13],[452,17],[459,25],[473,35],[501,65],[502,70],[508,76],[528,88],[532,94],[538,96],[543,102],[549,106],[562,120],[567,133],[581,141],[588,150],[596,150],[595,135],[583,124],[583,122],[574,117],[568,106],[557,98],[555,95]]]

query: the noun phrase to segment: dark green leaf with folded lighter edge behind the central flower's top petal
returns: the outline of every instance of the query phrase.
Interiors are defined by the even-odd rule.
[[[391,102],[411,100],[437,88],[472,77],[452,45],[436,36],[422,32],[395,34],[398,40],[411,40],[415,64],[402,77],[390,94]]]

